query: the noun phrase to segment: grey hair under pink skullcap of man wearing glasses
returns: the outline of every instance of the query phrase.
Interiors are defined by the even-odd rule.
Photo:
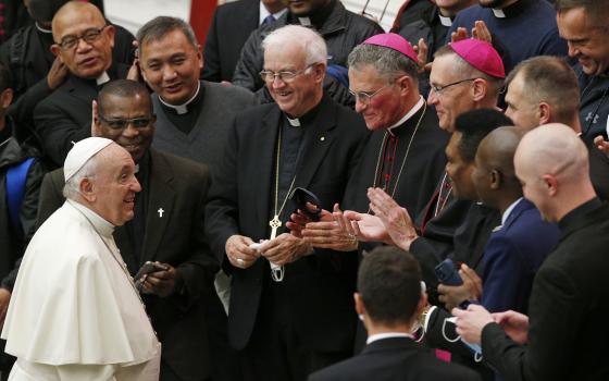
[[[399,51],[377,45],[360,44],[348,58],[349,69],[359,70],[366,65],[372,65],[378,75],[393,81],[398,76],[408,75],[419,83],[419,67],[408,57]]]

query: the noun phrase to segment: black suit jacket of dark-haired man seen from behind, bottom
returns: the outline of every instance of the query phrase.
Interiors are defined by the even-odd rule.
[[[444,362],[407,337],[375,341],[353,358],[309,376],[309,381],[474,381],[473,370]]]

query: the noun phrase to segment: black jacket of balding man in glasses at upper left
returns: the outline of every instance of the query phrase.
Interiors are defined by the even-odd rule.
[[[115,64],[108,70],[111,79],[126,78],[129,66]],[[34,109],[35,132],[45,156],[62,167],[72,142],[91,136],[92,101],[99,93],[95,79],[70,75],[65,83]]]

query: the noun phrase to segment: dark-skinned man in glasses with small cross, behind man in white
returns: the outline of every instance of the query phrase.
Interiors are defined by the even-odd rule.
[[[146,261],[158,266],[144,276],[142,298],[163,343],[160,380],[208,380],[213,364],[208,346],[206,296],[217,271],[203,237],[207,167],[150,148],[154,114],[146,87],[120,79],[100,93],[92,135],[111,138],[132,155],[142,192],[135,218],[114,237],[132,275]],[[42,223],[63,202],[62,170],[45,177]]]

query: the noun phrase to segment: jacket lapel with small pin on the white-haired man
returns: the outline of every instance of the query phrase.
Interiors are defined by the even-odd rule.
[[[312,125],[304,131],[302,157],[298,163],[296,186],[307,187],[321,167],[322,161],[332,146],[335,136],[331,133],[336,126],[336,106],[325,95],[321,100],[321,109]],[[303,163],[307,163],[303,165]]]

